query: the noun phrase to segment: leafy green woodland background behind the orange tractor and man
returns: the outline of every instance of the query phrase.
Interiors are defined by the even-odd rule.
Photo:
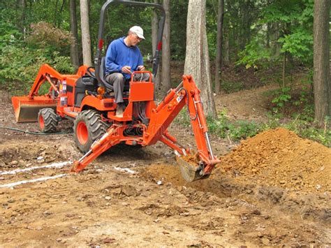
[[[165,28],[168,40],[166,43],[163,40],[163,47],[168,44],[169,50],[163,50],[162,54],[168,61],[163,60],[160,66],[159,96],[164,96],[169,87],[176,87],[180,82],[187,57],[186,45],[197,38],[188,36],[186,31],[192,21],[187,19],[189,5],[194,1],[159,1],[169,17]],[[233,120],[223,109],[217,116],[209,117],[209,130],[214,135],[240,140],[265,129],[285,126],[300,136],[331,145],[330,1],[317,1],[328,6],[329,30],[325,34],[328,50],[318,51],[324,57],[326,53],[329,69],[326,78],[318,81],[324,92],[326,89],[325,95],[317,95],[321,97],[318,105],[316,90],[314,92],[314,86],[317,89],[314,56],[318,54],[318,48],[314,49],[314,30],[318,23],[314,24],[314,16],[318,15],[319,8],[323,10],[323,4],[317,9],[319,5],[313,0],[207,0],[200,1],[201,9],[191,10],[205,13],[202,16],[207,30],[212,97],[272,83],[279,85],[265,95],[270,99],[270,108],[265,113],[267,121]],[[83,63],[82,2],[84,0],[0,2],[0,89],[12,95],[27,94],[39,67],[45,63],[61,73],[75,73]],[[99,13],[104,2],[86,1],[91,61],[96,53]],[[140,50],[147,68],[152,68],[155,15],[157,13],[150,9],[130,6],[109,9],[105,49],[115,38],[125,36],[129,27],[140,25],[146,38],[140,43]],[[326,112],[316,117],[316,110],[321,108]],[[183,114],[178,122],[189,124],[189,119]]]

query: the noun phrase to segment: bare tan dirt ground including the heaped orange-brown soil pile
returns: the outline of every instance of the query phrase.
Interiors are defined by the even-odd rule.
[[[264,89],[241,94],[260,96]],[[1,126],[38,131],[36,124],[14,123],[10,99],[0,95]],[[242,117],[247,102],[240,92],[218,96],[218,110],[229,97],[228,114]],[[263,104],[251,104],[258,118]],[[70,131],[71,122],[61,129]],[[195,146],[189,129],[172,125],[169,131]],[[1,129],[0,247],[331,245],[330,148],[286,129],[235,147],[212,138],[212,146],[222,163],[207,180],[184,181],[172,150],[161,143],[117,145],[82,173],[69,174],[70,165],[42,166],[80,158],[73,134]],[[43,177],[57,178],[3,187]]]

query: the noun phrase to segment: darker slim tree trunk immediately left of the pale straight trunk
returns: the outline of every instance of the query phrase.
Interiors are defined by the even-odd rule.
[[[77,13],[76,13],[76,0],[70,0],[70,30],[73,36],[73,41],[70,45],[70,57],[71,63],[78,69],[80,66],[80,59],[78,56],[78,24],[77,24]]]

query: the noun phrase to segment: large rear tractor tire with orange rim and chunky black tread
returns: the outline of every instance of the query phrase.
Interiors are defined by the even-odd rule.
[[[74,139],[78,149],[83,153],[88,152],[94,141],[107,132],[108,127],[96,110],[80,112],[73,124]]]

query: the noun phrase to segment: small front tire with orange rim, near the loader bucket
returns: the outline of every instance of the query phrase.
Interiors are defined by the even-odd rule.
[[[52,108],[42,108],[38,112],[38,124],[43,133],[54,133],[57,131],[57,114]]]

